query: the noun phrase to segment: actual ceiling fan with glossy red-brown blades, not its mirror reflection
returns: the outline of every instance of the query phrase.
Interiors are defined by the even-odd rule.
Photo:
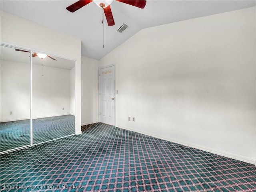
[[[74,4],[68,6],[66,9],[70,12],[75,12],[76,10],[82,8],[83,6],[89,4],[90,2],[96,3],[99,7],[104,10],[108,26],[113,26],[115,24],[114,18],[110,9],[110,4],[113,0],[80,0]],[[144,8],[146,5],[146,0],[116,0],[122,3],[126,3],[138,8]]]

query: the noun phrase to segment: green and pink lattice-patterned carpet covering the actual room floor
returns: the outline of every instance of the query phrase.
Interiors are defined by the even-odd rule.
[[[1,190],[256,191],[253,164],[102,123],[82,132],[3,154]]]

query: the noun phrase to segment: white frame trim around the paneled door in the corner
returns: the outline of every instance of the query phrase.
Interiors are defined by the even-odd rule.
[[[114,97],[115,97],[114,104],[115,104],[115,107],[114,107],[114,125],[113,126],[116,126],[116,64],[102,66],[102,67],[99,67],[99,69],[98,69],[98,97],[99,97],[98,118],[99,118],[99,122],[100,122],[100,70],[102,70],[104,68],[108,68],[108,67],[114,67],[114,69],[115,69],[115,72],[114,72]]]

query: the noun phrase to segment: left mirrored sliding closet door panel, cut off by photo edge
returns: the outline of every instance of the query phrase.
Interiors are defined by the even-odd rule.
[[[30,145],[30,52],[1,45],[0,151]]]

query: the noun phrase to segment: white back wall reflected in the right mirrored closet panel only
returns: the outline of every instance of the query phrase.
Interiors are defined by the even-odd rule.
[[[33,118],[70,114],[70,70],[33,65]],[[64,108],[64,110],[62,110]]]

